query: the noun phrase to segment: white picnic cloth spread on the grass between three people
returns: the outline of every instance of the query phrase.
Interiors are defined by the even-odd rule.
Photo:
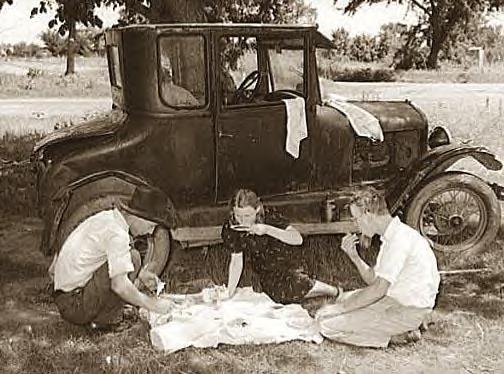
[[[161,297],[181,297],[163,295]],[[267,344],[290,340],[321,343],[316,321],[298,304],[273,302],[251,287],[238,288],[231,299],[204,302],[201,294],[187,295],[171,316],[149,314],[152,345],[174,352],[189,346]]]

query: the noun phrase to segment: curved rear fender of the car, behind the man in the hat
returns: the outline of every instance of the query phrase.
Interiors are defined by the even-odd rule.
[[[87,175],[61,188],[50,199],[52,214],[44,217],[45,227],[40,244],[42,253],[56,253],[66,237],[83,219],[112,208],[120,199],[131,196],[139,186],[155,188],[137,176],[113,170]],[[172,214],[165,225],[168,228],[176,227],[175,208],[171,199],[168,201],[168,209]],[[65,227],[62,227],[63,220],[68,221]]]

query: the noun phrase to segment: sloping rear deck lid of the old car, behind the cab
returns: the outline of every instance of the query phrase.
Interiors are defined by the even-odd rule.
[[[124,122],[125,118],[125,113],[113,111],[90,121],[56,130],[37,142],[33,152],[38,152],[50,145],[67,142],[68,140],[112,134]]]

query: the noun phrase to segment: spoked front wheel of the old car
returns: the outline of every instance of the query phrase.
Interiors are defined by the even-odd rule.
[[[444,173],[423,186],[411,200],[406,223],[430,239],[439,254],[466,257],[480,253],[500,227],[500,203],[480,178]]]

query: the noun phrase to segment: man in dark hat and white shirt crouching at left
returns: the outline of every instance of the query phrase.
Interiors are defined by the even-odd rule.
[[[146,255],[151,261],[143,266],[139,252],[130,247],[130,234],[152,234],[161,228],[167,232],[162,226],[156,228],[168,222],[165,195],[159,190],[138,187],[131,200],[117,205],[81,222],[65,240],[49,269],[55,303],[63,319],[71,323],[110,327],[120,322],[125,303],[156,313],[168,313],[172,308],[170,301],[137,288],[156,289],[155,272],[165,267],[169,246],[158,246],[154,249],[156,254]]]

